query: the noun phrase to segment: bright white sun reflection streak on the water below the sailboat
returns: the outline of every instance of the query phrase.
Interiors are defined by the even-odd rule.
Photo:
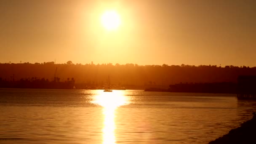
[[[115,144],[115,109],[128,104],[124,91],[99,91],[98,95],[94,96],[92,103],[104,107],[103,144]]]

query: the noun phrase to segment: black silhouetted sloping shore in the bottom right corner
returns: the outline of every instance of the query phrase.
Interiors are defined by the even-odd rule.
[[[234,128],[229,133],[210,141],[208,144],[256,144],[256,114],[253,118]]]

